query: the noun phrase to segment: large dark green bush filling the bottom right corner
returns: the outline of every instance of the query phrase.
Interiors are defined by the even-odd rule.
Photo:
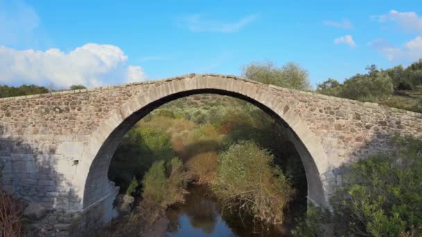
[[[397,152],[362,159],[351,166],[337,209],[351,217],[355,234],[422,234],[422,141],[400,138]]]

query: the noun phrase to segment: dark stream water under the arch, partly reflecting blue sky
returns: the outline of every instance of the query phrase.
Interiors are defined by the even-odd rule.
[[[194,186],[189,192],[185,204],[167,211],[167,236],[290,236],[289,225],[268,227],[251,216],[222,211],[204,186]]]

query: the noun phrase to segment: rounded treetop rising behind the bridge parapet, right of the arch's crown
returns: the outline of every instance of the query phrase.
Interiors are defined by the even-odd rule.
[[[242,76],[279,87],[310,89],[307,71],[294,62],[283,67],[276,67],[273,62],[252,62],[242,69]]]

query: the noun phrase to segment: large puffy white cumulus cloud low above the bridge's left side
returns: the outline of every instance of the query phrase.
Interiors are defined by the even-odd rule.
[[[97,87],[145,80],[143,69],[126,65],[127,60],[119,47],[108,44],[85,44],[69,53],[0,46],[0,82]]]

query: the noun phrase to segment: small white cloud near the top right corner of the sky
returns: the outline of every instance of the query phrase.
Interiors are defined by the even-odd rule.
[[[422,17],[416,12],[398,12],[390,10],[387,15],[373,16],[380,22],[394,21],[407,33],[422,33]]]

